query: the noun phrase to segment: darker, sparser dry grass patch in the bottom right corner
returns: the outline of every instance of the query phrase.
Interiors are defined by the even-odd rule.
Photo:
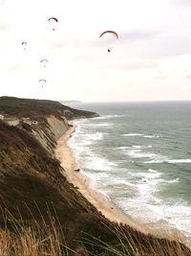
[[[84,244],[96,247],[97,256],[191,256],[191,250],[179,241],[158,239],[152,235],[140,236],[138,232],[127,232],[123,226],[108,227],[117,236],[117,244],[111,245],[96,237],[84,234]],[[100,251],[100,254],[99,254]]]

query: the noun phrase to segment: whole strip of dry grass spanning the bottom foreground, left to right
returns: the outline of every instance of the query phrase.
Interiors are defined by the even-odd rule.
[[[37,205],[36,205],[37,207]],[[48,206],[47,206],[48,207]],[[30,209],[29,209],[30,211]],[[20,218],[16,221],[7,210],[4,213],[5,227],[0,228],[0,255],[3,256],[190,256],[191,251],[179,242],[157,239],[153,236],[141,236],[139,232],[128,231],[124,226],[107,227],[117,237],[115,244],[107,244],[87,233],[83,241],[87,250],[76,252],[65,243],[65,236],[56,212],[51,214],[48,207],[49,221],[32,223]],[[9,224],[8,224],[9,223]],[[11,223],[11,225],[10,225]],[[8,227],[9,226],[9,227]]]

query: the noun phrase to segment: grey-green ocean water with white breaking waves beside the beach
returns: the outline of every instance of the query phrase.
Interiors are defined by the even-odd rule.
[[[73,107],[100,115],[76,121],[69,140],[95,188],[135,221],[191,238],[191,102]]]

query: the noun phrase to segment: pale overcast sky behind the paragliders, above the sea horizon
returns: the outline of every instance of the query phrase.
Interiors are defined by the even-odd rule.
[[[107,30],[118,38],[99,37]],[[5,95],[191,100],[191,0],[0,0]]]

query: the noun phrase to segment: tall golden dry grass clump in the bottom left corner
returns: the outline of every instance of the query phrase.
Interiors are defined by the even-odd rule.
[[[49,208],[48,214],[49,223],[42,215],[40,223],[34,218],[32,223],[26,223],[22,218],[16,221],[6,210],[6,214],[4,213],[5,228],[0,228],[0,255],[68,256],[69,252],[74,253],[64,244],[65,237],[59,221],[56,220],[57,216],[53,217]]]

